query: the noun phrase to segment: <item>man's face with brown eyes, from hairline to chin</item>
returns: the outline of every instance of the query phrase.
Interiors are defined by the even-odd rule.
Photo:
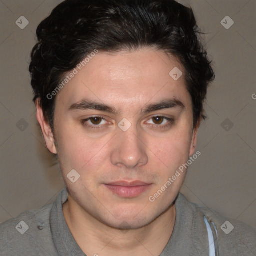
[[[184,181],[185,169],[167,184],[196,143],[191,98],[184,75],[169,75],[174,67],[184,73],[151,48],[99,52],[56,96],[57,147],[44,134],[46,144],[58,154],[74,205],[108,226],[152,222]],[[75,182],[71,170],[73,181],[80,175]]]

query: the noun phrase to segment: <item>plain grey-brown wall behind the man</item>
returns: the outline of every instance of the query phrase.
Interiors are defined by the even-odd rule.
[[[60,2],[0,0],[0,222],[52,202],[64,186],[37,124],[28,73],[36,27]],[[198,134],[201,156],[181,191],[256,227],[256,0],[179,2],[191,5],[206,32],[216,73]],[[24,29],[15,23],[20,16],[29,21]],[[234,21],[229,29],[220,23],[230,24],[225,16]]]

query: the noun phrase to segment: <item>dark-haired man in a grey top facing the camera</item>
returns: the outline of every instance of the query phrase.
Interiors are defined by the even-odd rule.
[[[256,254],[255,229],[179,193],[214,79],[191,9],[66,0],[37,37],[36,116],[66,188],[0,225],[1,255]]]

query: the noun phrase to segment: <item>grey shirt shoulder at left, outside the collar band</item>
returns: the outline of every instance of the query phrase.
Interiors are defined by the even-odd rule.
[[[0,224],[0,255],[54,255],[52,204],[24,211]]]

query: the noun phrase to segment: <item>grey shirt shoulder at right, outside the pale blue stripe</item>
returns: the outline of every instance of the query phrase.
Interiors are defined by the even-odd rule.
[[[256,255],[256,228],[218,211],[189,203],[197,216],[205,216],[214,223],[220,255]]]

